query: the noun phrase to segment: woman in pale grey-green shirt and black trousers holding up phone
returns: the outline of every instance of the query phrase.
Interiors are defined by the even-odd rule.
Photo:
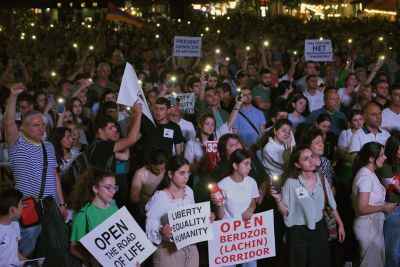
[[[271,186],[271,195],[288,227],[286,240],[291,267],[330,266],[328,234],[322,219],[325,201],[333,209],[339,226],[339,242],[345,232],[336,202],[327,180],[315,172],[313,152],[305,145],[297,146],[285,170],[282,193]],[[327,199],[321,179],[324,179]]]

